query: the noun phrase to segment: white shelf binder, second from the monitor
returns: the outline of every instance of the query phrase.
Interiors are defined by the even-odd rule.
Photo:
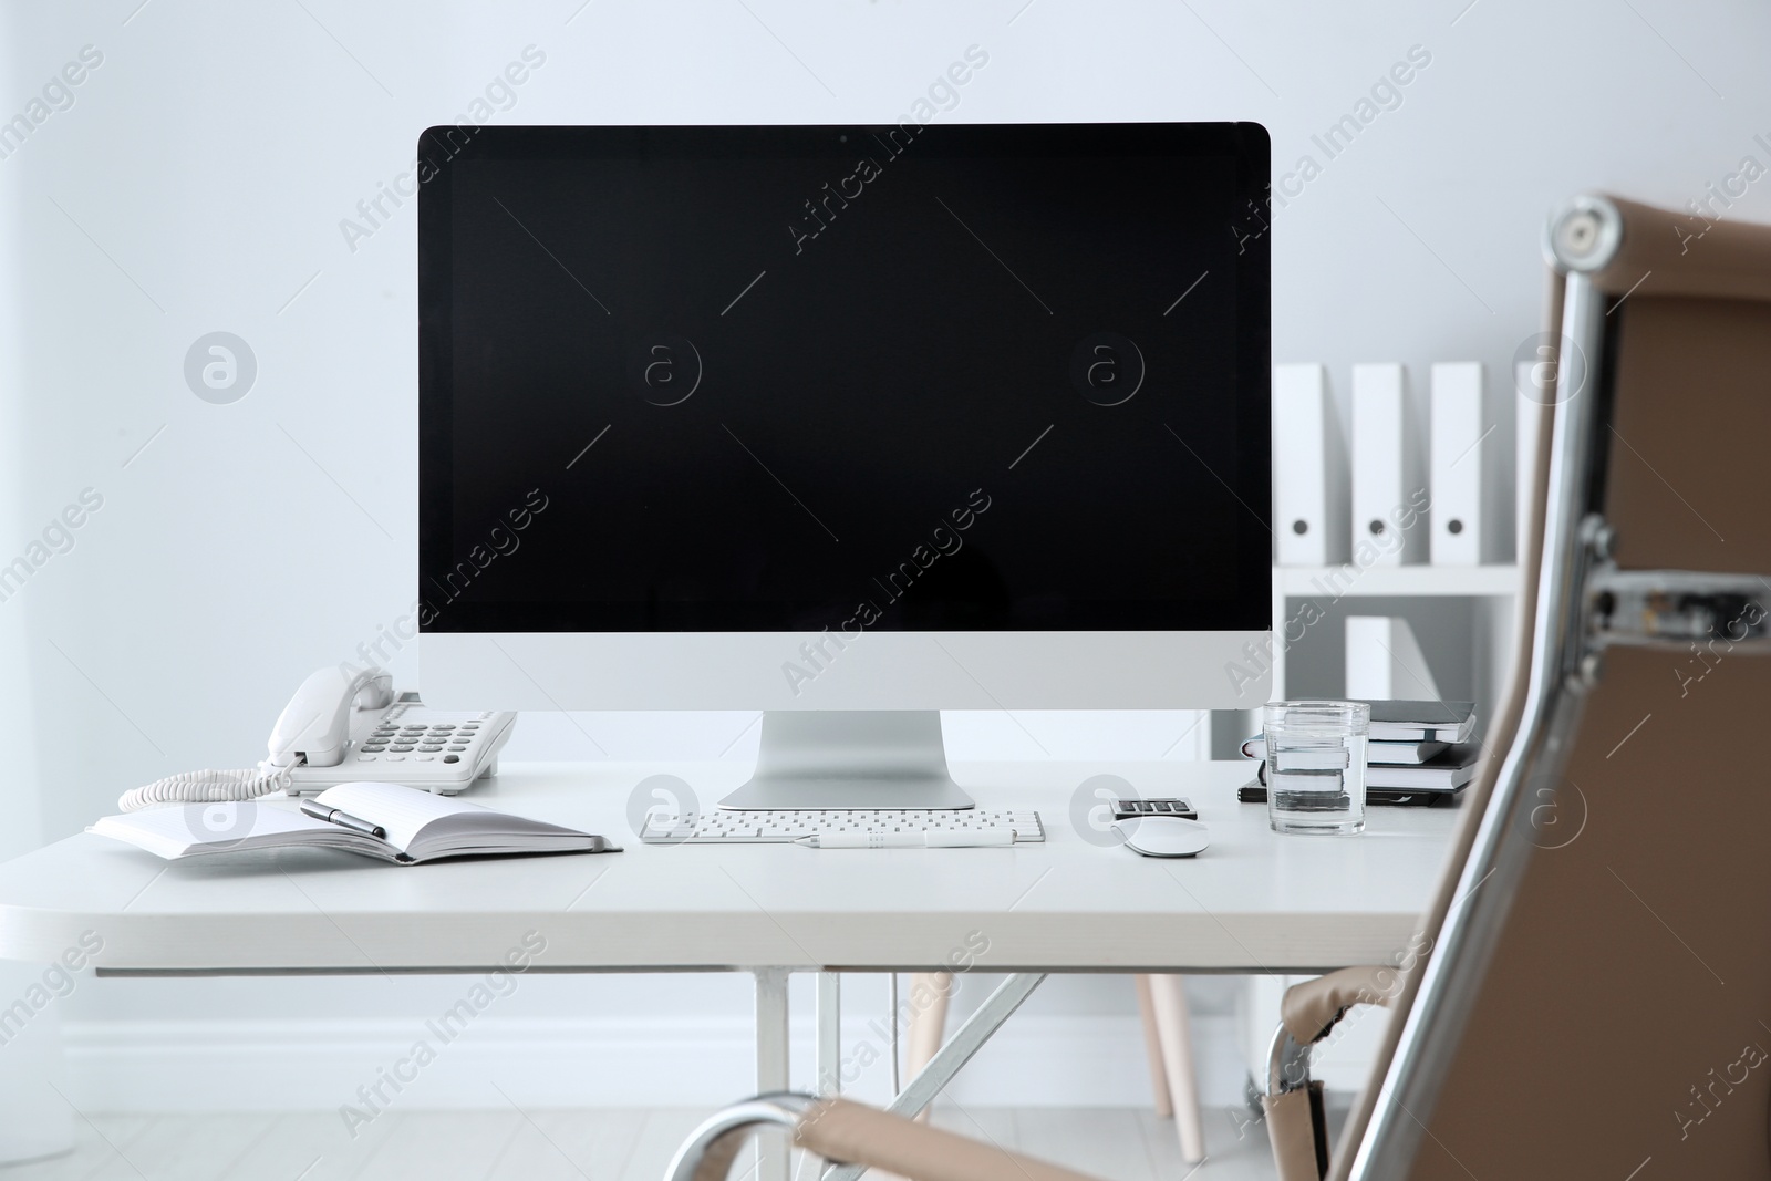
[[[1353,565],[1426,560],[1427,508],[1422,428],[1401,365],[1353,367]]]

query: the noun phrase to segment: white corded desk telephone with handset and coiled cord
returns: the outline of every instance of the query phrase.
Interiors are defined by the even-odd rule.
[[[443,714],[416,692],[393,692],[379,668],[324,668],[301,682],[271,729],[269,756],[246,770],[168,776],[117,800],[126,813],[149,804],[250,800],[271,791],[305,795],[336,783],[374,779],[453,795],[498,774],[498,753],[517,715]]]

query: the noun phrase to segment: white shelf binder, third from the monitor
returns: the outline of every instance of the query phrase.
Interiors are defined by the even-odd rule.
[[[1479,361],[1433,367],[1433,565],[1500,556],[1500,446]]]

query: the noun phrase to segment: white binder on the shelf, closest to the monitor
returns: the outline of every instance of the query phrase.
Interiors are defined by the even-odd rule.
[[[1348,560],[1346,439],[1321,365],[1273,367],[1273,536],[1282,567]]]

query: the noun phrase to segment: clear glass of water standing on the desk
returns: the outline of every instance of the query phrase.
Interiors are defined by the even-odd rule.
[[[1261,714],[1273,832],[1364,832],[1371,706],[1270,701]]]

